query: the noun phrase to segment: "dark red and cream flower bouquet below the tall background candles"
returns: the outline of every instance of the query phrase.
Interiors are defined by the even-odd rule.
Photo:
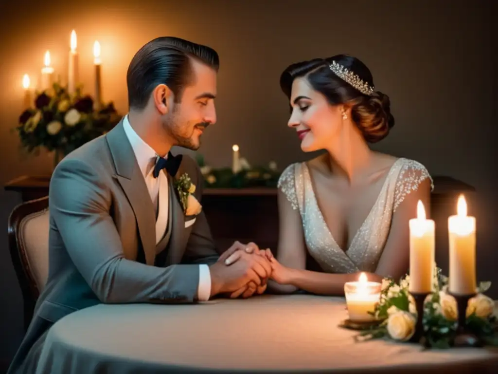
[[[34,108],[20,115],[16,130],[29,153],[40,147],[55,151],[57,164],[61,157],[111,130],[120,119],[112,102],[96,110],[94,100],[83,96],[81,88],[69,94],[54,83],[52,89],[36,94]]]

